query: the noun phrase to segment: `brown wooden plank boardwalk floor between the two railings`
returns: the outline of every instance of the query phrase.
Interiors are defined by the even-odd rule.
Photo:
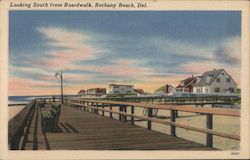
[[[46,108],[45,108],[46,109]],[[42,133],[41,109],[28,128],[25,150],[210,150],[202,144],[63,106],[57,132]]]

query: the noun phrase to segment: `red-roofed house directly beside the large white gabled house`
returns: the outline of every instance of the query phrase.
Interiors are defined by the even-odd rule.
[[[175,92],[193,92],[193,86],[199,77],[189,77],[180,81],[180,84],[175,88]]]

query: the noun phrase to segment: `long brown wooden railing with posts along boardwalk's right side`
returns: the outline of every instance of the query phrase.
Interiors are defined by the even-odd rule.
[[[127,121],[127,116],[131,117],[131,123],[134,124],[134,118],[142,119],[147,121],[147,128],[151,130],[152,122],[170,125],[171,135],[176,136],[176,127],[188,129],[192,131],[197,131],[201,133],[206,133],[206,145],[213,147],[213,135],[240,140],[240,136],[232,135],[229,133],[222,133],[213,130],[213,115],[222,116],[235,116],[240,117],[239,109],[226,109],[226,108],[200,108],[192,106],[174,106],[174,105],[160,105],[160,104],[149,104],[149,103],[135,103],[135,102],[117,102],[117,101],[101,101],[101,100],[82,100],[82,99],[66,99],[66,104],[72,105],[76,108],[94,112],[99,114],[99,111],[109,112],[110,118],[113,118],[112,114],[118,114],[119,120]],[[119,111],[112,110],[113,107],[119,107]],[[131,113],[127,113],[127,107],[131,107]],[[148,110],[147,116],[135,115],[134,108],[146,108]],[[108,109],[107,109],[108,108]],[[170,121],[158,119],[153,117],[153,109],[169,110],[170,111]],[[185,124],[180,124],[176,122],[177,112],[191,112],[191,113],[201,113],[206,115],[206,129],[197,128],[193,126],[188,126]]]

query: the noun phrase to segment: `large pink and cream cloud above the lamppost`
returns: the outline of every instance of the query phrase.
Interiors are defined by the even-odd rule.
[[[42,65],[46,68],[70,68],[78,61],[96,58],[101,52],[100,49],[88,44],[88,41],[94,39],[82,32],[56,27],[39,27],[37,30],[44,36],[47,47],[51,48],[47,56],[41,59]]]

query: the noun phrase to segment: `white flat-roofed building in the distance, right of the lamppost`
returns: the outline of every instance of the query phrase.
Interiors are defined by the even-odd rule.
[[[108,94],[133,94],[134,86],[133,85],[118,85],[118,84],[109,84]]]

